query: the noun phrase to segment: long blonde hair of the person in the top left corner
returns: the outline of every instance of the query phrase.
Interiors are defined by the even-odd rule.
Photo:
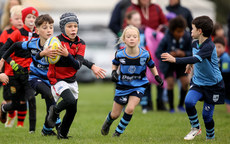
[[[4,9],[3,9],[3,14],[1,17],[1,29],[4,30],[6,27],[11,26],[10,24],[10,1],[11,0],[7,0],[5,5],[4,5]],[[22,5],[22,1],[18,0],[19,5]]]

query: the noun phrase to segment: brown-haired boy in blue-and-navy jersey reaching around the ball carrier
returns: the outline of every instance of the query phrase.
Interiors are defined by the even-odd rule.
[[[33,61],[30,64],[29,83],[37,94],[41,93],[42,98],[45,99],[46,117],[48,116],[50,106],[54,105],[55,101],[51,94],[50,83],[47,77],[49,64],[46,62],[45,58],[41,59],[37,58],[37,56],[39,56],[39,53],[49,57],[57,55],[56,50],[47,48],[43,51],[46,40],[53,35],[53,23],[54,20],[48,14],[40,15],[35,21],[36,33],[39,35],[39,38],[34,38],[25,42],[16,42],[3,55],[3,60],[6,60],[13,52],[18,51],[18,49],[30,51]],[[60,119],[57,119],[56,125],[60,123]],[[56,135],[52,128],[53,127],[48,125],[45,118],[45,123],[41,131],[42,135]]]

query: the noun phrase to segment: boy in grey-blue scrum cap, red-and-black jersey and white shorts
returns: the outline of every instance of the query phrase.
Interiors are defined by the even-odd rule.
[[[104,78],[105,71],[84,59],[85,42],[77,36],[79,21],[74,13],[64,13],[60,17],[61,34],[58,39],[61,46],[58,55],[62,57],[56,64],[50,64],[48,78],[51,83],[51,91],[55,101],[62,98],[57,105],[50,107],[48,122],[52,127],[55,125],[57,116],[66,110],[61,125],[58,128],[58,139],[68,139],[68,132],[77,112],[78,83],[76,73],[86,65],[92,69],[97,78]]]

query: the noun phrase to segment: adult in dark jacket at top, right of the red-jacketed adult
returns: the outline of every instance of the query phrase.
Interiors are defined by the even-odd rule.
[[[181,6],[180,0],[169,0],[169,5],[166,7],[169,12],[181,15],[185,18],[189,31],[192,30],[192,13],[186,7]]]

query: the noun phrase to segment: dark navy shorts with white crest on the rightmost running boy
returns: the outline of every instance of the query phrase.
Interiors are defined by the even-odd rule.
[[[203,99],[208,104],[224,104],[225,101],[225,86],[224,81],[213,86],[197,86],[191,81],[190,90],[196,90],[203,94]]]

